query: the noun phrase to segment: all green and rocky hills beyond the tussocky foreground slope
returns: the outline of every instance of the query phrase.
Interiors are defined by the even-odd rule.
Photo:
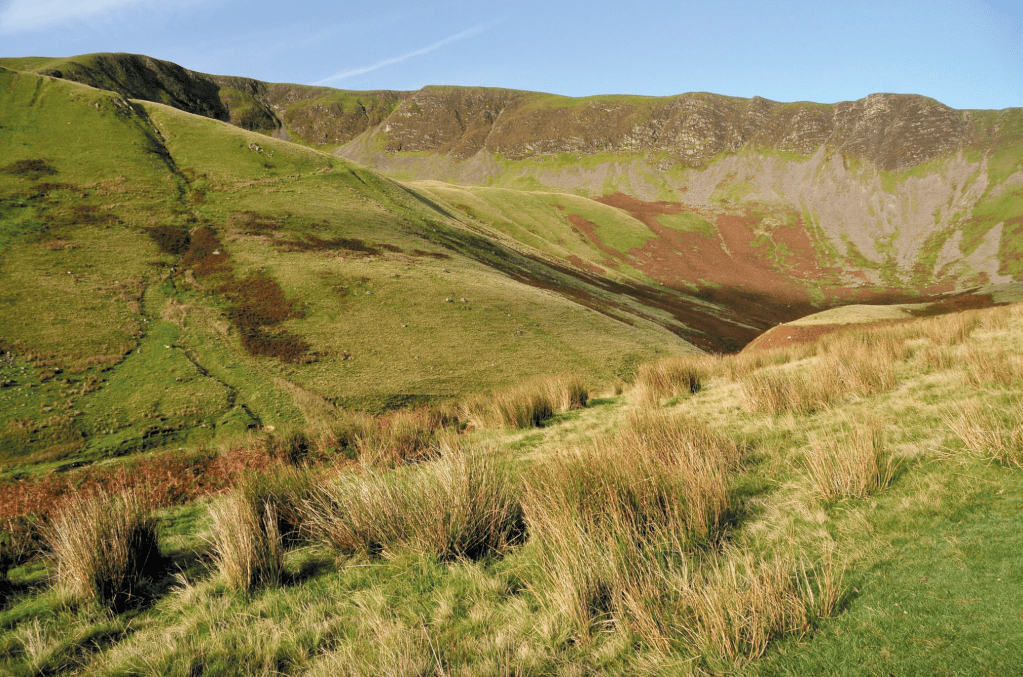
[[[0,454],[33,462],[613,382],[1023,272],[1020,109],[0,66]]]

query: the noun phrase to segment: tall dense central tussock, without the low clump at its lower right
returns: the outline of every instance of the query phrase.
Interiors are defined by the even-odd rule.
[[[628,600],[661,572],[660,557],[716,540],[738,456],[699,421],[642,414],[546,463],[525,500],[544,578],[539,598],[584,635],[609,619],[637,621]]]

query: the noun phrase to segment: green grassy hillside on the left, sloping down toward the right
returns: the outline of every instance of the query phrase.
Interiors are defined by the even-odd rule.
[[[7,472],[693,350],[664,299],[346,161],[33,74],[0,97]]]

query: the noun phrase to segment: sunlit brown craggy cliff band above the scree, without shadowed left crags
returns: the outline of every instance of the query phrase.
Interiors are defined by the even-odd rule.
[[[819,105],[714,94],[576,101],[505,90],[427,88],[404,100],[377,133],[388,151],[434,151],[456,160],[480,150],[508,160],[657,152],[699,166],[746,146],[808,156],[827,145],[896,170],[961,146],[969,120],[937,101],[895,94]]]

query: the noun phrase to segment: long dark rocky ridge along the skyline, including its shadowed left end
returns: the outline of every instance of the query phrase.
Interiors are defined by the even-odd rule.
[[[456,160],[482,149],[511,160],[653,151],[667,153],[666,164],[700,166],[747,144],[804,156],[829,145],[897,170],[976,136],[971,129],[974,111],[917,94],[876,93],[855,101],[814,103],[707,92],[567,97],[433,85],[417,91],[346,91],[209,75],[137,54],[27,61],[0,59],[311,145],[340,146],[375,132],[386,136],[388,151],[442,152]]]

